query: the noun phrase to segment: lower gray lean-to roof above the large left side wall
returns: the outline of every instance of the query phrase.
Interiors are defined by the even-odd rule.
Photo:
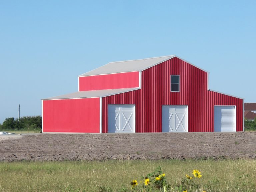
[[[52,99],[77,99],[77,98],[90,98],[90,97],[106,97],[109,95],[115,95],[119,93],[124,93],[128,91],[134,91],[140,88],[125,88],[125,89],[106,89],[106,90],[93,90],[93,91],[78,91],[75,93],[69,93],[65,95],[60,95],[56,97],[50,97],[42,100],[52,100]]]

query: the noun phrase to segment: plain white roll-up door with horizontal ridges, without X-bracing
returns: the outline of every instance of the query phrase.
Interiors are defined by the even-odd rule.
[[[235,106],[214,106],[214,131],[236,131]]]

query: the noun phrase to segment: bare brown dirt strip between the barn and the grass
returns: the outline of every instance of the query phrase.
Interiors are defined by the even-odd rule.
[[[0,135],[0,161],[256,158],[256,132]]]

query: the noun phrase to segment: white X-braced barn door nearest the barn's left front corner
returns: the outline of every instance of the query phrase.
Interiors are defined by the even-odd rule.
[[[135,133],[134,105],[108,105],[108,133]]]

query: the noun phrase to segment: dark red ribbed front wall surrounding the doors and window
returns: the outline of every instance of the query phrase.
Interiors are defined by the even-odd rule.
[[[102,132],[108,132],[108,104],[135,104],[136,132],[162,132],[162,105],[188,105],[188,131],[214,131],[214,105],[236,106],[236,130],[243,130],[243,100],[207,90],[207,72],[175,57],[141,73],[141,89],[102,98]],[[170,92],[180,75],[180,92]]]

